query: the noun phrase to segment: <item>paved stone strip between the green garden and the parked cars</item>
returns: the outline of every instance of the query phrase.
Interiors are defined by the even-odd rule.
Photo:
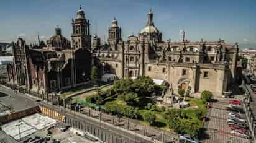
[[[211,108],[209,108],[208,118],[209,121],[206,122],[206,134],[208,139],[203,139],[201,142],[204,143],[249,143],[250,140],[234,137],[230,134],[231,130],[227,124],[227,116],[229,111],[226,110],[226,106],[229,105],[229,99],[218,100],[218,102],[211,103]]]

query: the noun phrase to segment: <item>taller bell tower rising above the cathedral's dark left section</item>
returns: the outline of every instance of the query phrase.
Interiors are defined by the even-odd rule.
[[[85,12],[80,9],[76,12],[76,19],[72,19],[71,48],[87,48],[91,50],[91,35],[89,20],[85,19]]]

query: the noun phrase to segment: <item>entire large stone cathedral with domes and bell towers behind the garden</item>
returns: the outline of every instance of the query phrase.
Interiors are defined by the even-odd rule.
[[[89,20],[81,7],[71,24],[71,41],[57,27],[41,49],[29,48],[22,38],[13,43],[14,61],[7,68],[9,82],[42,94],[69,90],[88,82],[93,65],[99,67],[101,75],[163,80],[174,93],[178,89],[191,93],[209,90],[220,97],[235,81],[237,44],[228,45],[220,39],[188,41],[184,30],[179,42],[163,41],[151,10],[145,27],[127,40],[122,40],[116,19],[108,29],[107,43],[101,44],[97,35],[91,37]]]

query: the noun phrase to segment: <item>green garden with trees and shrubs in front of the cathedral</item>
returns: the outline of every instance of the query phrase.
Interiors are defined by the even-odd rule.
[[[116,80],[110,89],[98,90],[85,99],[74,100],[76,103],[103,110],[111,115],[138,119],[145,125],[198,137],[211,92],[202,92],[202,99],[186,97],[186,101],[197,108],[173,109],[157,106],[153,97],[162,95],[162,91],[167,88],[155,85],[149,77],[139,77],[135,80],[120,79]]]

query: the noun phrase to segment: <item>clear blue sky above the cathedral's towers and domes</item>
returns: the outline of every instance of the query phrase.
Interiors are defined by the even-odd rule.
[[[91,34],[106,41],[108,27],[116,17],[122,28],[122,38],[137,35],[145,27],[149,9],[153,22],[163,33],[163,40],[178,41],[180,30],[186,39],[238,42],[240,48],[256,48],[255,0],[9,0],[0,3],[0,42],[22,37],[36,43],[55,34],[70,39],[71,19],[79,6],[91,23]]]

